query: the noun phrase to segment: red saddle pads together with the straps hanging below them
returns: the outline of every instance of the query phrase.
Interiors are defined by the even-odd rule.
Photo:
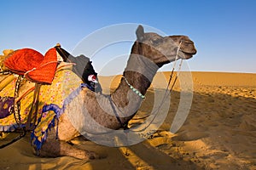
[[[7,59],[3,61],[3,65],[7,70],[19,75],[15,85],[15,99],[19,98],[20,83],[24,77],[26,77],[28,81],[35,82],[32,108],[26,122],[26,130],[31,130],[35,126],[34,123],[37,120],[40,87],[42,84],[49,85],[52,83],[55,77],[57,64],[57,52],[55,48],[50,48],[44,55],[31,48],[22,48],[10,53]],[[3,101],[3,104],[6,105],[6,101]],[[35,111],[34,116],[32,116],[33,111]],[[15,102],[11,107],[9,106],[9,113],[15,114],[16,122],[19,124],[19,101]],[[5,113],[4,115],[7,116],[8,114]]]

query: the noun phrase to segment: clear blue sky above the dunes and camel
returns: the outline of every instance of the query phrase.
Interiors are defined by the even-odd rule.
[[[72,52],[84,37],[102,27],[138,23],[166,35],[189,36],[198,50],[188,60],[191,71],[256,73],[254,0],[2,0],[0,4],[0,51],[34,48],[44,54],[61,42]],[[92,58],[96,70],[114,50]],[[129,53],[131,44],[119,50]],[[125,64],[118,66],[123,69]]]

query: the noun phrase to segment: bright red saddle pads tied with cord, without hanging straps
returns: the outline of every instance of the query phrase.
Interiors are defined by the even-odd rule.
[[[44,55],[31,48],[22,48],[10,54],[3,64],[32,82],[51,84],[57,67],[56,53],[55,48],[50,48]]]

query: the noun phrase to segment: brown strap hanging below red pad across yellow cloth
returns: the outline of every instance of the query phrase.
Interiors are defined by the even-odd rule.
[[[27,116],[26,130],[33,130],[36,126],[37,116],[38,116],[38,106],[39,106],[39,93],[41,84],[35,84],[34,96],[32,101],[32,106]],[[34,114],[33,114],[34,113]]]

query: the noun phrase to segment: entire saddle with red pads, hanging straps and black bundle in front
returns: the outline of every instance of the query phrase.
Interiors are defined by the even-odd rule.
[[[3,61],[4,71],[7,71],[7,74],[10,73],[10,75],[3,79],[6,83],[0,83],[0,91],[4,88],[4,84],[6,85],[10,81],[15,80],[16,85],[15,96],[13,98],[7,97],[0,99],[0,111],[4,111],[2,117],[0,114],[0,118],[14,113],[17,124],[20,124],[19,108],[20,99],[23,97],[23,94],[19,94],[20,83],[22,81],[24,82],[23,78],[26,78],[27,81],[35,82],[33,87],[30,88],[30,91],[27,92],[31,93],[33,91],[34,93],[32,106],[26,122],[26,130],[32,130],[37,120],[40,87],[42,85],[50,85],[53,82],[55,71],[61,61],[73,65],[72,71],[81,78],[85,87],[92,91],[102,92],[100,83],[97,82],[97,73],[94,71],[90,59],[84,55],[73,57],[65,49],[61,48],[60,44],[57,44],[55,48],[50,48],[44,55],[32,48],[18,49],[8,54]],[[59,69],[61,64],[58,66]],[[2,70],[2,68],[0,69]],[[12,73],[18,75],[18,78]]]

